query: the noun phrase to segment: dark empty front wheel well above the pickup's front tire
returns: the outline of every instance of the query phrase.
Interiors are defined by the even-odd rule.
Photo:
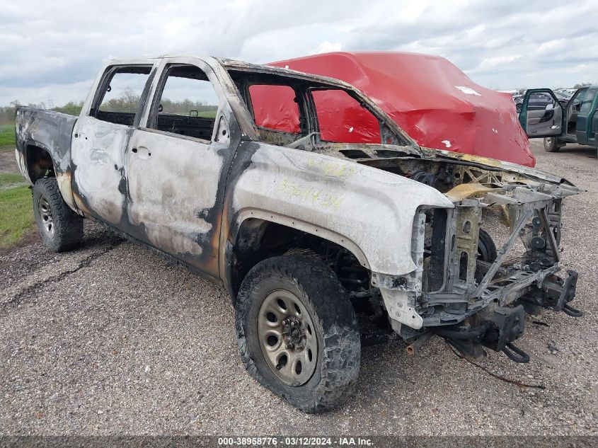
[[[284,224],[248,218],[238,229],[232,251],[230,283],[233,297],[253,266],[295,248],[309,250],[321,257],[335,271],[345,289],[365,291],[370,288],[369,270],[343,246]]]

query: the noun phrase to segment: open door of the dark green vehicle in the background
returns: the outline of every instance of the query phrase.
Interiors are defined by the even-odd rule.
[[[532,96],[546,101],[531,101]],[[563,135],[563,107],[549,88],[531,88],[523,98],[519,123],[530,139]]]

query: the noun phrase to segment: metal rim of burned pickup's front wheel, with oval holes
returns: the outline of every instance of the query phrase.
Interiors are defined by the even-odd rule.
[[[314,322],[292,292],[277,289],[263,299],[258,338],[264,359],[284,384],[301,386],[316,371],[318,339]]]

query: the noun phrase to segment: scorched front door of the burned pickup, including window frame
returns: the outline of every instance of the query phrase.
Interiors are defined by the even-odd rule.
[[[199,59],[163,61],[127,149],[127,209],[130,234],[218,278],[226,173],[240,132],[215,78]]]

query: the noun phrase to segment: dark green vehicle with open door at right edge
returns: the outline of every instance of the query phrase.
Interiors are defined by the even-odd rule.
[[[535,88],[525,93],[519,122],[530,139],[544,138],[544,149],[556,152],[568,143],[598,148],[598,86],[582,87],[570,100],[563,102],[548,88]],[[544,109],[534,103],[537,95],[550,96]]]

